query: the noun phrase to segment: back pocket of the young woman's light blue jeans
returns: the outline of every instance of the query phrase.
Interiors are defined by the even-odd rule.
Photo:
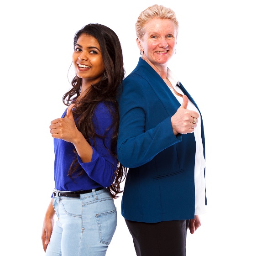
[[[110,244],[117,225],[116,208],[109,212],[96,214],[99,228],[99,241],[103,244]]]

